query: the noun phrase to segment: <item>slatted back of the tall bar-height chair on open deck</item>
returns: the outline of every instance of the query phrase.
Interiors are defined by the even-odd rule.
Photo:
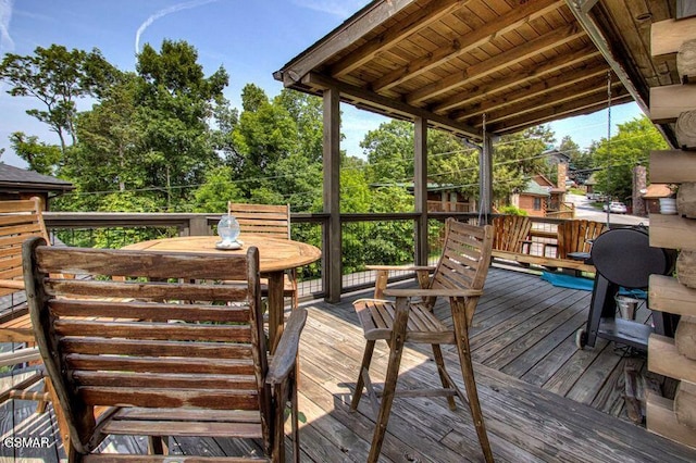
[[[483,289],[490,266],[493,226],[469,225],[448,218],[443,255],[435,267],[431,288]],[[478,298],[467,301],[471,323]]]

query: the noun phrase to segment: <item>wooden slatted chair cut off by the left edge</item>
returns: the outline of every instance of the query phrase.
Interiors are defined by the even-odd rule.
[[[22,242],[41,237],[48,242],[48,233],[41,215],[41,200],[0,201],[0,342],[24,345],[24,348],[0,354],[0,366],[14,367],[41,359],[34,346],[34,329],[29,318],[22,275]],[[9,399],[37,400],[37,411],[46,409],[49,395],[32,390],[44,377],[42,367],[25,379],[0,392],[0,403]]]

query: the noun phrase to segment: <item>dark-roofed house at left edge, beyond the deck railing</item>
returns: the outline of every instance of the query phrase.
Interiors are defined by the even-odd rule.
[[[0,163],[0,201],[36,196],[48,210],[50,198],[74,189],[70,182]]]

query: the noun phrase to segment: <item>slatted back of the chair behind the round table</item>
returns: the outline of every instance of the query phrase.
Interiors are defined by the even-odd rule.
[[[239,228],[243,234],[290,239],[289,204],[241,204],[231,202],[228,210],[239,222]]]

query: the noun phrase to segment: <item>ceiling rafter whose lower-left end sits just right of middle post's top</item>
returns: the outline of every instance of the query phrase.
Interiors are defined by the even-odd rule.
[[[431,111],[437,114],[442,114],[447,110],[451,110],[457,107],[463,107],[471,104],[476,100],[492,96],[494,92],[502,92],[510,87],[524,85],[529,80],[542,78],[544,75],[559,71],[566,67],[573,66],[584,61],[596,59],[601,53],[595,49],[595,47],[585,47],[570,54],[561,54],[549,61],[538,65],[533,63],[526,66],[526,68],[514,73],[504,79],[492,82],[490,84],[484,84],[475,86],[471,90],[462,91],[460,95],[444,99],[440,103],[431,108]]]

